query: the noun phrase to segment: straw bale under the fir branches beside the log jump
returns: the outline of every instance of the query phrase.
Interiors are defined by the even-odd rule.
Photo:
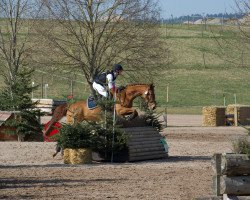
[[[65,164],[90,164],[92,163],[91,149],[69,149],[63,151]]]

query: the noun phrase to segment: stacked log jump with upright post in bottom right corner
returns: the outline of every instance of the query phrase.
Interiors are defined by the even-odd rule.
[[[215,195],[250,200],[250,160],[246,154],[215,154],[212,168]]]

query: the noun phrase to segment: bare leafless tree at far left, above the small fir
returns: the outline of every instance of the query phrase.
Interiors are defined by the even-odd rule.
[[[29,63],[32,54],[30,26],[32,4],[28,0],[0,1],[0,75],[12,95],[17,75]],[[29,20],[28,20],[29,19]]]

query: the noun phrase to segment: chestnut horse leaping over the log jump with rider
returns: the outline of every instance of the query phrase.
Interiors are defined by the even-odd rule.
[[[127,85],[120,93],[116,94],[116,114],[121,117],[129,115],[130,120],[137,117],[138,112],[136,109],[132,108],[132,106],[133,100],[139,96],[145,100],[149,109],[153,110],[156,108],[153,84],[130,84]],[[67,104],[62,104],[55,109],[51,123],[44,134],[47,135],[53,128],[53,124],[59,121],[63,116],[65,116],[65,114],[67,117],[67,123],[69,124],[73,124],[75,120],[77,122],[84,120],[101,120],[101,108],[96,107],[94,109],[89,109],[87,101],[77,101],[69,106],[67,106]]]

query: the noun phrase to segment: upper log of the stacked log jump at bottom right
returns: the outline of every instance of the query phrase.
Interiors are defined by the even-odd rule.
[[[226,154],[221,158],[221,173],[228,176],[250,175],[250,160],[246,154]]]

